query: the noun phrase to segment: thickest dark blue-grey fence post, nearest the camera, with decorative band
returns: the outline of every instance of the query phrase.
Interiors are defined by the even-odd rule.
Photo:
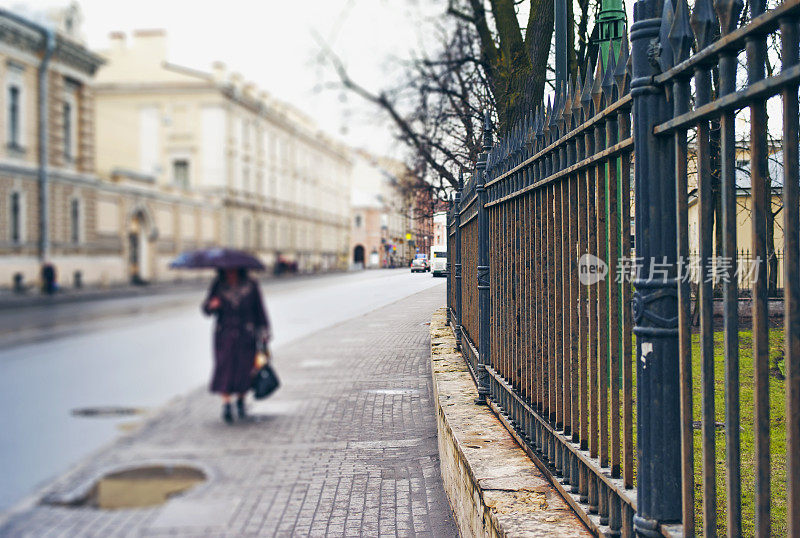
[[[672,4],[667,4],[672,9]],[[663,88],[653,83],[664,0],[637,0],[631,27],[636,256],[633,297],[637,380],[637,514],[640,536],[660,536],[681,519],[681,428],[678,384],[678,284],[674,140],[653,127],[670,119]],[[671,15],[671,13],[667,14]]]

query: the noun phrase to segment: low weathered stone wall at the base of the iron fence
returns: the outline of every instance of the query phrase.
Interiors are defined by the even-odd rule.
[[[444,488],[461,536],[592,536],[485,405],[444,308],[431,320],[431,368]]]

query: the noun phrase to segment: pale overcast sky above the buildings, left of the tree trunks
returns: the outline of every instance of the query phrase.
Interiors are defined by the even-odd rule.
[[[44,10],[68,0],[0,0],[14,9]],[[401,157],[390,124],[357,96],[325,83],[333,72],[316,60],[316,32],[370,89],[398,79],[393,59],[425,46],[430,18],[441,0],[79,0],[83,32],[92,49],[104,49],[111,31],[163,28],[169,60],[210,70],[220,60],[273,96],[312,117],[324,131],[355,147]]]

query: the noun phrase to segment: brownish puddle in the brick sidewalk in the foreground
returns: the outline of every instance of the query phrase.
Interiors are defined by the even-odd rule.
[[[205,479],[205,473],[185,465],[138,467],[105,475],[86,497],[71,505],[102,510],[156,506]]]

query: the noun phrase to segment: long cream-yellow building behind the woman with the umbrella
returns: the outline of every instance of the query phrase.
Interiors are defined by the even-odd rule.
[[[212,209],[145,203],[162,249],[216,243],[300,271],[345,268],[348,150],[221,63],[206,73],[167,62],[166,37],[111,35],[95,83],[98,172]],[[152,250],[149,267],[165,271]]]

